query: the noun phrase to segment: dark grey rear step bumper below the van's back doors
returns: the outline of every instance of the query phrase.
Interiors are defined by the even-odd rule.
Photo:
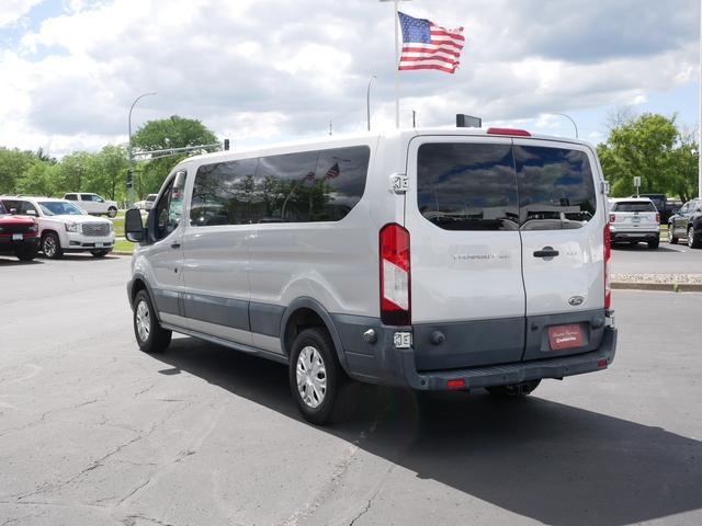
[[[614,361],[616,348],[616,329],[608,328],[600,348],[590,353],[565,356],[562,358],[535,359],[513,364],[465,369],[417,373],[412,352],[403,352],[403,368],[409,387],[418,390],[455,390],[448,387],[449,380],[463,380],[461,389],[505,386],[542,378],[565,378],[602,370]],[[455,385],[455,384],[454,384]]]

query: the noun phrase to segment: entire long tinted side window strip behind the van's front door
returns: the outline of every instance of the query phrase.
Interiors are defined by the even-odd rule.
[[[338,221],[363,195],[370,157],[358,146],[200,167],[191,225]]]

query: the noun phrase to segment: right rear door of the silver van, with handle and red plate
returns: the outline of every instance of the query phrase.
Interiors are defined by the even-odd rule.
[[[584,145],[513,144],[526,291],[524,359],[591,351],[604,327],[607,214],[597,160]]]

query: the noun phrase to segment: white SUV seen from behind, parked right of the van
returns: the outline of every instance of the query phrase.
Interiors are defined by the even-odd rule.
[[[660,214],[648,197],[625,197],[610,201],[612,244],[639,242],[657,249],[660,243]]]

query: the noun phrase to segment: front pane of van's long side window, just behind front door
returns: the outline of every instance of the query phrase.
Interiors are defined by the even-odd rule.
[[[257,159],[244,159],[200,167],[190,205],[190,224],[207,227],[252,222],[257,163]]]

